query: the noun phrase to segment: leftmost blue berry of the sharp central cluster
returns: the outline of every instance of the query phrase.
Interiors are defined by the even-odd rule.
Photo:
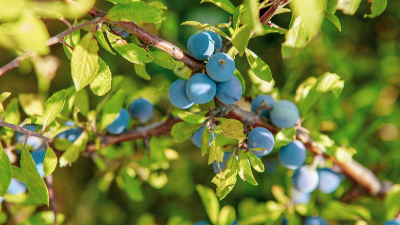
[[[176,80],[168,90],[168,99],[176,108],[190,108],[194,104],[186,94],[186,83],[183,79]]]

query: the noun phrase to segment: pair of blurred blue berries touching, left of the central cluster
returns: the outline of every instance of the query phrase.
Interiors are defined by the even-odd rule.
[[[153,115],[153,104],[144,98],[136,98],[130,103],[128,110],[121,108],[117,117],[106,127],[106,130],[110,134],[119,135],[128,127],[129,116],[139,121],[139,123],[147,123],[152,119]]]

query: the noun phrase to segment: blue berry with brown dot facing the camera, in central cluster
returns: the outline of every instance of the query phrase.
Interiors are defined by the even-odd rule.
[[[206,71],[211,79],[217,82],[225,82],[235,72],[235,61],[225,52],[216,53],[208,60]]]

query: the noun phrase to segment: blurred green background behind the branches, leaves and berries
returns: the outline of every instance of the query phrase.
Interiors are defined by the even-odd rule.
[[[180,26],[180,23],[187,20],[212,25],[229,22],[227,12],[210,3],[200,4],[200,0],[161,2],[168,7],[164,13],[166,20],[161,28],[156,30],[154,25],[148,25],[144,26],[144,29],[185,51],[186,41],[198,30],[191,26]],[[232,3],[238,6],[242,1],[232,0]],[[112,4],[99,0],[96,7],[106,11]],[[296,51],[286,60],[282,60],[280,52],[284,35],[276,33],[252,38],[248,47],[271,67],[274,80],[266,83],[248,74],[246,58],[237,56],[236,68],[246,80],[244,96],[274,93],[278,98],[293,100],[297,86],[306,78],[318,77],[328,71],[337,73],[345,80],[342,95],[338,99],[330,95],[324,97],[312,115],[304,121],[304,127],[311,131],[322,131],[339,145],[353,147],[357,150],[354,158],[374,171],[379,179],[400,183],[399,9],[400,1],[390,0],[382,15],[374,19],[364,19],[364,14],[370,12],[370,3],[363,0],[354,16],[338,11],[336,16],[342,25],[341,32],[325,19],[322,32],[313,38],[304,50]],[[88,16],[85,18],[90,19]],[[290,18],[290,13],[279,14],[274,16],[272,22],[288,28]],[[66,29],[65,24],[56,20],[45,20],[45,23],[51,36]],[[168,88],[178,79],[177,74],[185,76],[182,75],[184,69],[180,70],[181,73],[174,72],[151,63],[146,69],[152,79],[146,81],[135,74],[134,64],[121,56],[113,56],[104,49],[100,49],[99,54],[110,67],[113,77],[124,75],[123,84],[113,88],[126,90],[126,106],[138,96],[148,98],[156,106],[153,121],[160,120],[165,115],[165,107],[168,104],[167,92],[163,87]],[[0,65],[8,63],[14,57],[12,53],[0,49]],[[44,72],[35,72],[35,68],[39,66],[44,66],[45,69],[40,70]],[[4,105],[20,93],[37,93],[44,100],[53,92],[71,85],[70,61],[66,58],[61,44],[51,47],[50,56],[36,58],[35,64],[25,60],[19,68],[0,78],[0,92],[12,93]],[[157,90],[159,94],[154,94]],[[93,109],[103,97],[95,96],[89,90],[88,98],[90,109]],[[244,101],[241,105],[244,108],[249,107]],[[22,117],[26,117],[24,112],[20,111]],[[218,138],[221,140],[218,141],[218,145],[224,146],[229,143],[229,140],[224,140],[223,137]],[[134,145],[137,145],[138,149],[134,150]],[[102,171],[89,157],[80,157],[72,167],[57,168],[54,172],[54,191],[58,211],[65,215],[64,224],[190,224],[197,220],[208,220],[195,190],[196,184],[215,189],[215,185],[210,182],[215,174],[212,165],[207,165],[207,157],[201,157],[200,149],[194,147],[191,141],[173,143],[168,135],[153,138],[150,150],[154,159],[151,165],[152,172],[143,172],[143,179],[148,181],[140,181],[140,190],[133,190],[133,194],[119,187],[120,177],[117,176],[114,181],[114,173],[110,172],[110,168],[118,165],[113,163],[108,164],[109,167]],[[164,158],[157,156],[160,151],[165,153],[165,157],[162,156]],[[258,186],[238,181],[232,192],[220,202],[221,207],[235,207],[238,219],[250,217],[259,211],[260,205],[275,200],[271,192],[272,185],[281,185],[288,189],[290,172],[279,165],[276,153],[275,149],[272,154],[264,157],[264,173],[254,173]],[[135,165],[146,165],[147,162],[141,141],[104,149],[99,155],[107,159],[127,159],[129,156]],[[311,161],[312,157],[309,156],[307,162]],[[351,180],[346,179],[332,195],[314,192],[310,203],[313,210],[318,209],[320,215],[327,219],[335,218],[335,212],[326,207],[326,202],[330,199],[340,199],[353,185]],[[138,198],[138,193],[141,193],[142,197]],[[382,200],[371,199],[367,195],[355,199],[354,203],[367,209],[374,221],[372,224],[383,223],[385,218],[381,210]],[[24,205],[10,207],[14,207],[11,211],[17,213],[20,209],[32,211]],[[48,210],[46,207],[39,209]],[[8,224],[13,223],[8,221]],[[348,224],[354,224],[354,221]]]

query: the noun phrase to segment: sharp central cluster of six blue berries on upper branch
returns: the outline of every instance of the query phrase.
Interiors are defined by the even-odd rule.
[[[206,60],[206,72],[196,73],[189,80],[176,80],[168,90],[168,99],[176,108],[190,108],[194,103],[210,102],[214,96],[233,104],[242,96],[242,84],[234,76],[235,61],[222,50],[222,38],[210,31],[193,34],[188,40],[188,51],[193,58]],[[216,52],[214,54],[214,52]]]

